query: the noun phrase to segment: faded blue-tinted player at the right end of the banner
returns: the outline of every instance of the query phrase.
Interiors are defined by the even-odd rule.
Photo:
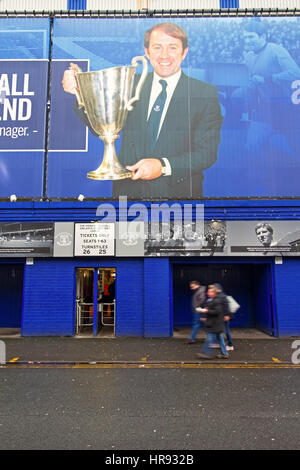
[[[270,156],[275,161],[276,156],[294,156],[289,140],[291,129],[286,128],[291,128],[294,121],[296,109],[291,102],[291,85],[300,79],[300,69],[282,45],[267,41],[267,33],[260,19],[245,23],[243,38],[249,83],[232,93],[229,112],[232,122],[247,124],[246,150],[265,159],[269,156],[265,145],[268,150],[271,146]],[[283,119],[290,126],[284,126]]]

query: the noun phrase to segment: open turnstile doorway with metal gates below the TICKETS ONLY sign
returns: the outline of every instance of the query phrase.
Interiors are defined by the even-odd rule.
[[[76,335],[114,336],[115,281],[115,268],[76,269]]]

